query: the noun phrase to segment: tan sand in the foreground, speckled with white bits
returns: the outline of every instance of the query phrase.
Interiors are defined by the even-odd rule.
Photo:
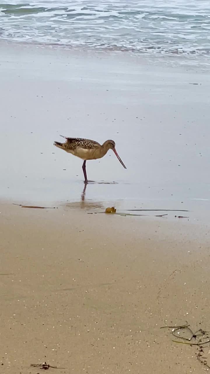
[[[209,229],[68,206],[0,214],[1,373],[202,373],[163,325],[209,329]],[[202,240],[201,240],[202,236]],[[206,349],[209,356],[209,349]]]

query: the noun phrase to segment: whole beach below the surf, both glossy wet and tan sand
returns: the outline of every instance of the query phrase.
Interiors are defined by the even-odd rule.
[[[174,58],[1,41],[2,373],[207,369],[161,329],[210,328],[209,72]],[[127,169],[88,161],[83,193],[60,134]]]

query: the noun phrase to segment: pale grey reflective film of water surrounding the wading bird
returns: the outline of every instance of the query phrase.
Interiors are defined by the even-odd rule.
[[[1,198],[207,217],[209,73],[103,53],[2,50]],[[111,150],[87,161],[95,183],[83,199],[82,160],[53,146],[59,134],[115,140],[127,169]]]

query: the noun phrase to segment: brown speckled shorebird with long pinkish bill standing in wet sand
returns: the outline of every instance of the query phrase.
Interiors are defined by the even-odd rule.
[[[54,145],[84,160],[83,166],[82,166],[83,173],[84,173],[84,183],[87,183],[86,160],[101,159],[101,157],[104,157],[109,149],[112,149],[114,151],[118,160],[123,165],[123,167],[126,169],[126,166],[124,165],[123,161],[121,160],[120,156],[118,155],[115,149],[114,140],[106,140],[104,144],[101,145],[97,141],[90,140],[90,139],[67,138],[67,137],[63,137],[63,135],[61,135],[61,137],[66,139],[65,143],[59,143],[55,141]]]

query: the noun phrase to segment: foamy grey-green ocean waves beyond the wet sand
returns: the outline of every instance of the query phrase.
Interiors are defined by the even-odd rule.
[[[210,1],[0,0],[0,39],[207,55]]]

